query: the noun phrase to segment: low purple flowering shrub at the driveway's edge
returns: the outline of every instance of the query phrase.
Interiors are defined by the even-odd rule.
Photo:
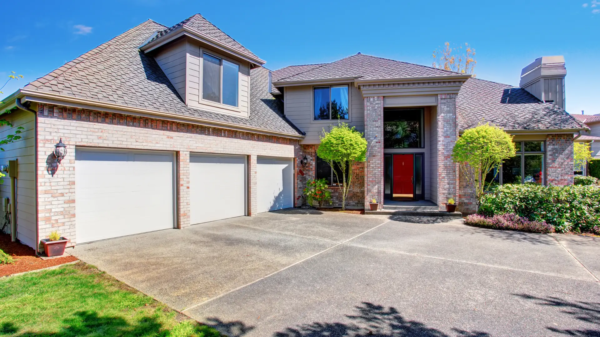
[[[494,228],[501,230],[519,230],[528,233],[553,233],[554,226],[545,221],[530,221],[527,218],[518,216],[514,213],[503,215],[485,216],[473,214],[467,216],[464,220],[467,225],[484,228]]]

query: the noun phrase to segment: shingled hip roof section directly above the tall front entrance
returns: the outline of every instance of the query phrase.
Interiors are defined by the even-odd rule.
[[[341,60],[307,67],[300,73],[293,74],[299,68],[286,67],[275,71],[278,82],[293,82],[322,79],[339,79],[355,77],[361,80],[397,79],[401,77],[433,77],[463,75],[454,71],[442,70],[425,65],[378,58],[376,56],[356,54]],[[312,65],[310,65],[312,66]],[[292,68],[292,69],[290,69]],[[281,73],[279,73],[281,71]],[[290,74],[288,74],[290,73]],[[275,82],[275,80],[274,80]]]

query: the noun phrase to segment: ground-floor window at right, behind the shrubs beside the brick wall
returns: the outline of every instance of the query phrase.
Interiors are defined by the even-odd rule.
[[[545,143],[515,142],[517,155],[505,159],[494,183],[536,183],[545,184]],[[495,169],[486,177],[490,182]]]

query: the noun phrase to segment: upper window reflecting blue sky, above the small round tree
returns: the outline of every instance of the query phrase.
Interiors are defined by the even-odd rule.
[[[348,86],[316,86],[313,88],[314,121],[348,119]]]

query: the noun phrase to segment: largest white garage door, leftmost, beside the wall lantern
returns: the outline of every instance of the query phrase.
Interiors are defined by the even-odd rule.
[[[173,228],[172,152],[77,148],[77,243]]]

